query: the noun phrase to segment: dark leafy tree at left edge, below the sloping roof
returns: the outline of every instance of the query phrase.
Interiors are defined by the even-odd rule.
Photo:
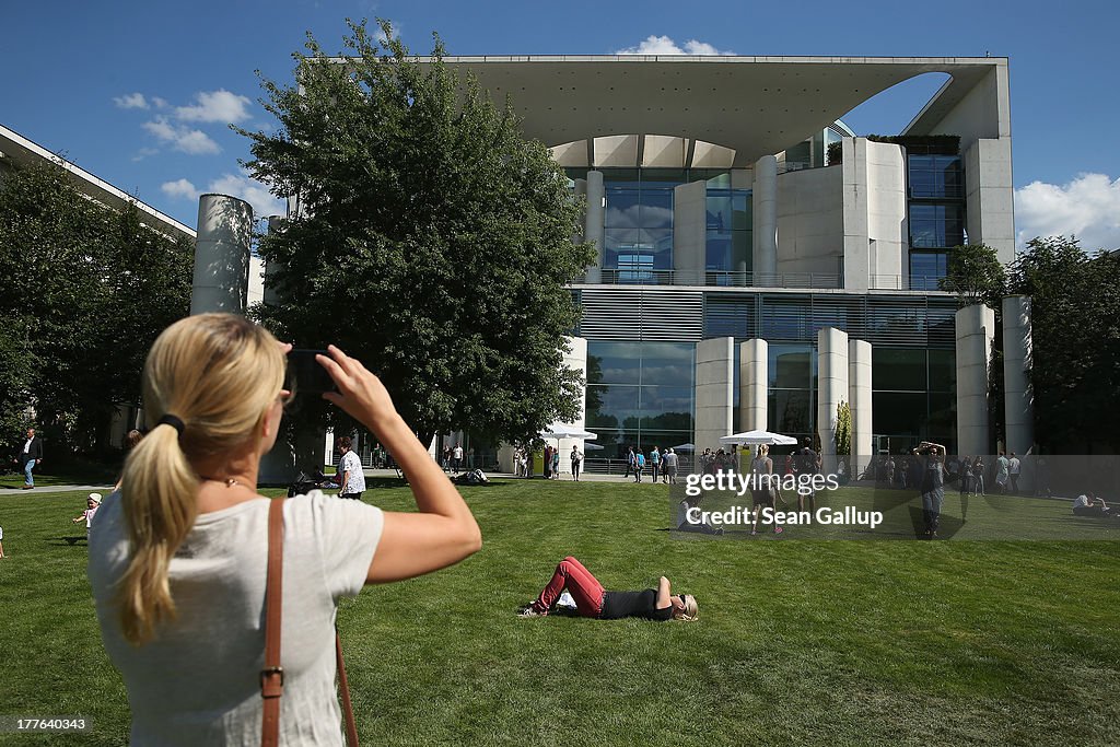
[[[116,404],[139,396],[151,343],[188,310],[194,248],[49,164],[4,176],[0,245],[0,448],[34,418],[56,442],[95,450]]]

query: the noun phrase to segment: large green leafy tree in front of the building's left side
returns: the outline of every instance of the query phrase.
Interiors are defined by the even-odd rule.
[[[580,205],[508,104],[388,22],[382,50],[351,24],[347,55],[309,36],[298,87],[265,81],[279,120],[252,139],[253,176],[301,211],[264,236],[281,304],[260,318],[301,346],[337,343],[382,377],[421,438],[467,429],[522,442],[578,412],[561,336],[567,284],[594,262]],[[305,422],[328,418],[305,402]]]

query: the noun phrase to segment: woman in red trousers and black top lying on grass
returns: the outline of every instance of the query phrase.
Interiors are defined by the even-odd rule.
[[[669,579],[664,576],[656,589],[607,591],[591,576],[591,571],[584,568],[584,563],[568,555],[557,566],[552,579],[536,600],[521,610],[521,617],[544,617],[564,589],[575,599],[576,610],[582,617],[603,620],[642,617],[657,622],[674,619],[691,623],[699,614],[696,598],[691,594],[671,594]]]

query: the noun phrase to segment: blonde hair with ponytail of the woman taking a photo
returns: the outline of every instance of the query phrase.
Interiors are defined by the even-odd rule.
[[[121,633],[136,645],[175,617],[168,570],[198,515],[193,463],[243,446],[260,432],[283,385],[274,337],[243,317],[203,314],[157,338],[143,372],[150,432],[129,455],[121,504],[129,566],[116,589]],[[162,422],[165,415],[181,420]]]

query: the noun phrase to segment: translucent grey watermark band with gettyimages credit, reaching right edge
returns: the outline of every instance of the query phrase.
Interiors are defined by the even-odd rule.
[[[1113,455],[825,455],[682,476],[669,498],[680,540],[1120,541]]]

